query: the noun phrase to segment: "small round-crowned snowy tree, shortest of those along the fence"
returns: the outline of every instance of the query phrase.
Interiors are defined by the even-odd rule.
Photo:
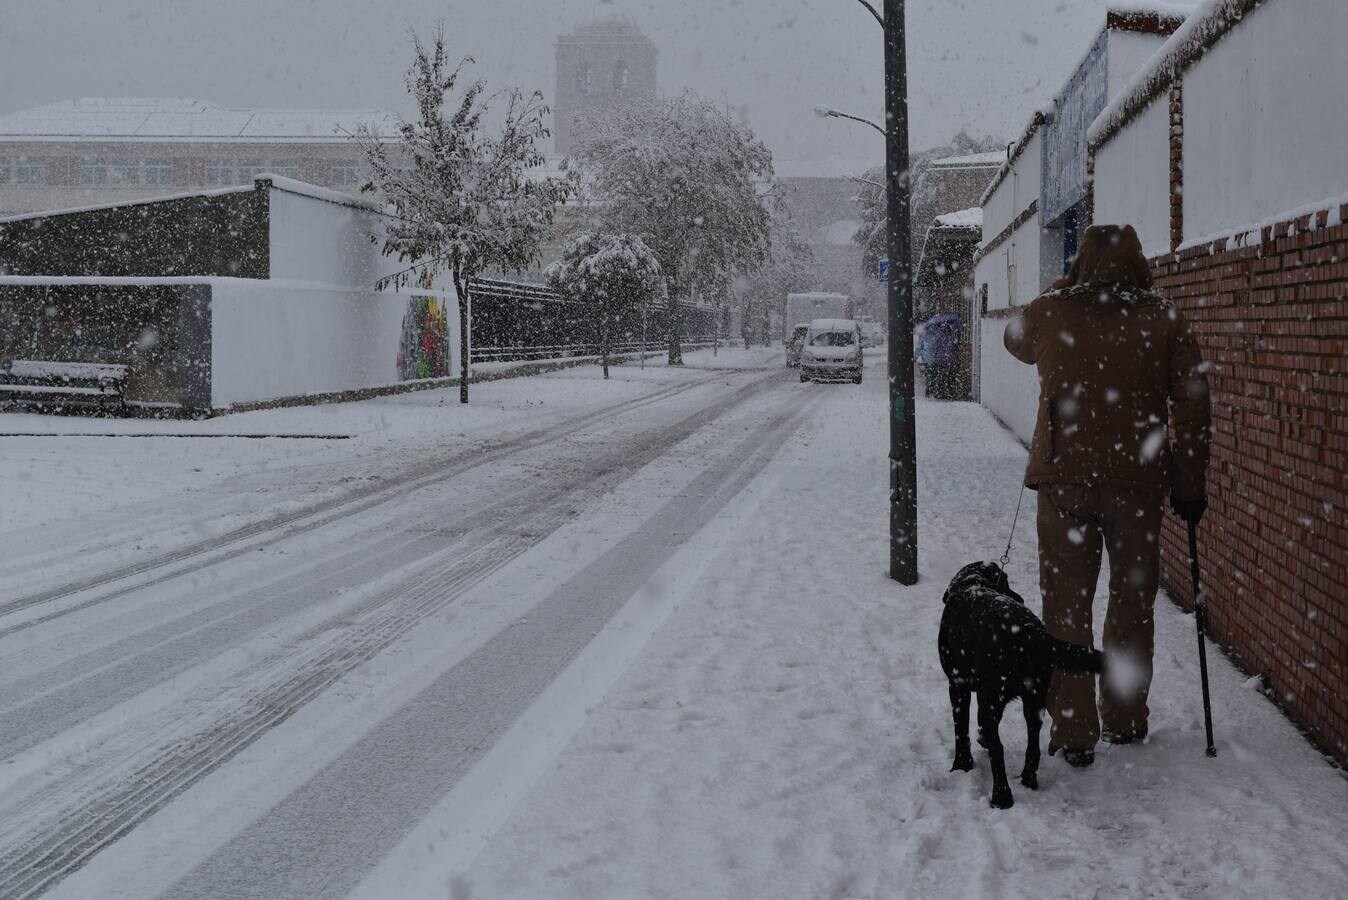
[[[547,267],[547,283],[585,304],[599,325],[605,379],[615,327],[628,310],[659,290],[661,275],[659,261],[640,237],[599,232],[577,234],[562,259]]]

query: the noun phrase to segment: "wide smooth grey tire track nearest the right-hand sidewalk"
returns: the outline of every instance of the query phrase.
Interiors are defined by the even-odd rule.
[[[724,461],[530,609],[527,625],[499,632],[160,900],[345,896],[487,754],[683,536],[748,486],[824,396],[816,392],[803,404],[793,396],[790,410],[754,428]],[[286,846],[283,858],[272,851],[276,846]]]

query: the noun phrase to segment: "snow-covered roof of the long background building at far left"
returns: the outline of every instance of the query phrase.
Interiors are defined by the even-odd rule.
[[[379,109],[225,109],[185,97],[84,97],[0,116],[0,139],[346,140],[396,128]]]

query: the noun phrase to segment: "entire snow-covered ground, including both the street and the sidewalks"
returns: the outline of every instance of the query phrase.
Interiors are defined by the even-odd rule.
[[[1010,812],[946,771],[940,596],[1024,451],[919,403],[890,582],[880,356],[0,439],[0,896],[1340,896],[1348,783],[1220,653],[1205,759],[1165,601],[1146,745]]]

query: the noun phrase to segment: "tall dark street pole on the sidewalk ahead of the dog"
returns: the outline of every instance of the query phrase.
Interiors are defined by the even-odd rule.
[[[869,5],[869,4],[867,4]],[[874,8],[872,8],[874,12]],[[918,581],[917,423],[913,404],[913,251],[909,238],[909,74],[903,0],[884,0],[884,183],[890,276],[890,578]]]

